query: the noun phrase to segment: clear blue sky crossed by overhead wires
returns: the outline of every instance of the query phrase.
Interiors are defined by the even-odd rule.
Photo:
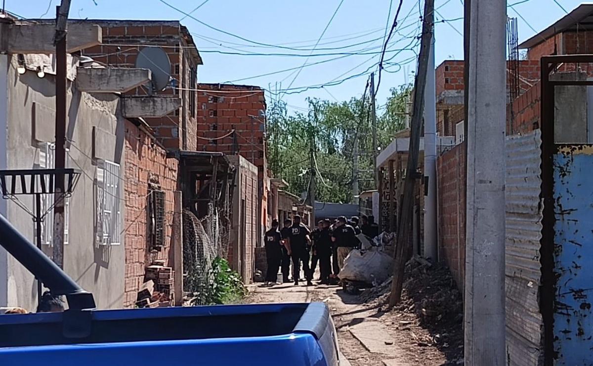
[[[204,0],[165,0],[168,4],[189,13]],[[571,11],[581,4],[578,0],[557,0]],[[24,18],[55,17],[55,6],[59,0],[5,0],[8,11]],[[519,18],[519,42],[531,37],[534,31],[543,30],[565,12],[553,0],[509,0],[522,17]],[[97,5],[95,5],[95,3]],[[369,55],[327,55],[306,57],[288,56],[241,56],[222,55],[211,51],[242,52],[242,53],[298,53],[307,56],[315,46],[332,14],[336,11],[340,0],[209,0],[192,16],[209,25],[245,39],[308,50],[288,50],[278,47],[256,46],[228,34],[212,30],[190,17],[181,22],[194,34],[194,40],[201,52],[204,65],[200,66],[198,78],[201,82],[228,82],[255,75],[299,68],[305,62],[313,63],[340,58],[334,61],[319,63],[302,68],[298,77],[292,82],[297,70],[237,81],[237,84],[260,85],[275,90],[278,88],[306,87],[340,81],[352,75],[374,71],[380,58],[378,54]],[[393,0],[393,9],[389,25],[393,22],[398,0]],[[421,7],[422,5],[420,5]],[[313,54],[320,53],[377,53],[382,45],[382,37],[387,26],[387,15],[390,0],[344,0],[342,6],[331,21],[323,38]],[[400,31],[394,33],[392,44],[386,58],[393,56],[392,64],[382,73],[378,105],[385,101],[389,88],[397,87],[411,81],[412,72],[416,68],[415,53],[407,45],[413,41],[406,37],[419,34],[419,0],[404,0],[399,16]],[[436,24],[436,64],[446,59],[463,58],[463,0],[435,0],[437,8],[436,20],[450,20]],[[508,8],[509,17],[518,17],[517,12]],[[160,0],[72,0],[71,18],[104,18],[104,19],[139,19],[139,20],[180,20],[184,15],[163,4]],[[531,25],[529,27],[526,21]],[[454,30],[457,28],[457,31]],[[374,42],[372,39],[380,38]],[[346,40],[348,39],[348,40]],[[353,43],[367,42],[358,46],[343,49],[327,50],[327,48],[343,47]],[[230,49],[232,47],[234,49]],[[326,50],[319,50],[326,48]],[[417,49],[417,48],[416,48]],[[409,62],[398,66],[397,63]],[[328,100],[348,100],[360,96],[366,84],[366,75],[348,79],[339,85],[322,89],[312,89],[299,94],[283,95],[282,100],[289,104],[290,110],[307,107],[307,97],[318,97]],[[375,79],[377,82],[377,79]],[[295,90],[297,91],[297,90]]]

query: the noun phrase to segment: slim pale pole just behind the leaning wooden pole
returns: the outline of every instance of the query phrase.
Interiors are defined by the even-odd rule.
[[[424,200],[424,256],[438,260],[436,238],[436,83],[435,36],[433,27],[431,55],[428,57],[426,91],[424,94],[424,175],[428,195]]]

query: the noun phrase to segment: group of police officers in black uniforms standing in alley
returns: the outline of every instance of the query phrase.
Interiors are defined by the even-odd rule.
[[[279,269],[282,269],[282,282],[289,282],[291,260],[292,281],[295,285],[301,281],[301,262],[307,286],[313,285],[317,264],[320,284],[335,284],[339,282],[338,274],[348,253],[360,246],[358,235],[374,238],[379,234],[374,218],[365,215],[362,215],[361,220],[352,217],[348,221],[343,216],[333,222],[323,219],[313,231],[301,222],[299,215],[295,215],[292,220],[284,220],[282,229],[278,227],[279,222],[274,220],[272,228],[264,237],[267,257],[265,285],[276,284]]]

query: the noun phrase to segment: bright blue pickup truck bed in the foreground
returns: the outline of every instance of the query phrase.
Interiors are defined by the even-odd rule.
[[[335,333],[322,303],[11,314],[0,365],[333,366]]]

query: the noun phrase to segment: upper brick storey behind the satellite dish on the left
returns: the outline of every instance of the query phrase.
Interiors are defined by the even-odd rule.
[[[135,67],[138,52],[145,47],[160,46],[171,62],[171,77],[177,80],[176,87],[196,88],[196,78],[190,79],[201,60],[197,49],[192,49],[193,41],[187,30],[178,21],[88,21],[103,28],[103,44],[82,51],[95,61],[122,67]],[[191,50],[191,51],[190,51]],[[195,54],[192,55],[192,52]],[[190,83],[193,81],[193,84]],[[147,87],[138,87],[126,93],[129,96],[147,96]],[[179,96],[182,100],[180,110],[164,117],[146,117],[146,122],[154,129],[154,134],[164,147],[169,149],[196,149],[196,93],[177,90],[173,85],[153,95]],[[190,96],[195,103],[190,103]]]

